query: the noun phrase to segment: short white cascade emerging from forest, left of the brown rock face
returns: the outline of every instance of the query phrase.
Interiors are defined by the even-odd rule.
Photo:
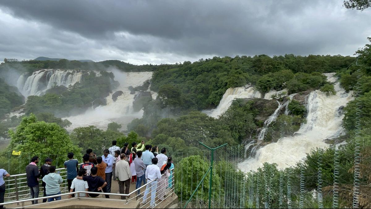
[[[202,112],[206,113],[207,115],[213,118],[218,118],[221,114],[228,110],[228,108],[232,105],[233,100],[236,98],[261,98],[261,97],[262,94],[260,94],[259,91],[255,90],[254,87],[250,87],[250,85],[246,85],[244,87],[229,88],[227,89],[226,93],[224,93],[216,109],[203,110]]]

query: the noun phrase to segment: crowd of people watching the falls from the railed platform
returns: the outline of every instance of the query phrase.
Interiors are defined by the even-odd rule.
[[[99,197],[101,194],[89,192],[111,193],[112,180],[118,181],[120,194],[129,194],[130,184],[135,184],[135,189],[145,184],[144,195],[137,191],[138,197],[143,197],[143,204],[147,204],[150,199],[150,207],[154,208],[155,193],[158,191],[158,199],[164,200],[165,190],[172,187],[172,169],[174,164],[172,158],[166,155],[166,149],[162,148],[158,154],[158,147],[144,145],[144,141],[137,144],[133,142],[129,149],[129,144],[125,143],[120,148],[117,142],[112,141],[112,147],[103,150],[102,156],[97,156],[92,149],[87,149],[82,157],[82,164],[74,159],[72,152],[67,154],[68,160],[65,161],[66,179],[69,192],[80,192],[80,197]],[[30,189],[31,198],[39,197],[39,179],[42,179],[43,202],[60,200],[60,184],[63,182],[59,171],[52,165],[51,158],[45,159],[45,164],[39,169],[39,157],[34,156],[31,163],[26,166],[27,186]],[[6,170],[0,169],[0,203],[4,202],[5,182],[3,177],[10,176]],[[150,197],[147,197],[151,193]],[[108,194],[104,194],[109,198]],[[70,194],[69,198],[75,194]],[[121,196],[126,199],[126,196]],[[37,200],[32,200],[32,204],[37,204]],[[3,208],[3,206],[0,206]]]

